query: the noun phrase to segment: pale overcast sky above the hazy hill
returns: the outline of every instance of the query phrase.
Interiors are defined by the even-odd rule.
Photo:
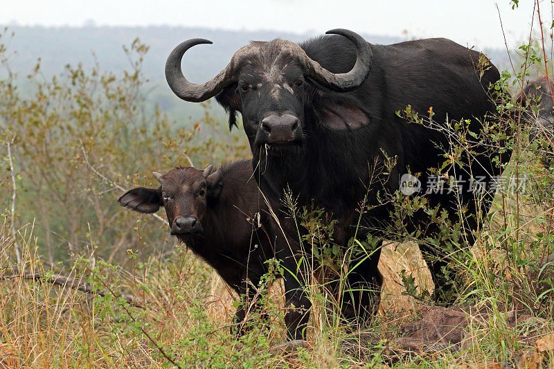
[[[82,26],[195,26],[233,30],[323,33],[349,28],[399,37],[447,37],[466,46],[503,48],[499,6],[508,44],[528,37],[533,0],[0,0],[0,24]],[[552,21],[551,1],[541,1]],[[536,23],[537,24],[537,23]],[[538,29],[538,28],[537,28]],[[407,35],[406,35],[407,32]]]

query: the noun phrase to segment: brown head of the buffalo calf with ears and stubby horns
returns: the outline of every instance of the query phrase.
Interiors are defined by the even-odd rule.
[[[222,187],[222,172],[196,168],[175,168],[166,174],[152,173],[159,188],[133,188],[118,203],[141,213],[155,213],[160,206],[166,215],[172,235],[202,233],[206,227],[208,201],[217,199]]]

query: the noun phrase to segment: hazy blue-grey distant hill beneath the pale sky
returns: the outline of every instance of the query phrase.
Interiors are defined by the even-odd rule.
[[[159,103],[163,110],[177,119],[184,116],[194,118],[200,113],[197,105],[183,102],[171,93],[163,74],[166,57],[179,42],[195,37],[213,41],[212,45],[192,48],[187,52],[183,63],[189,80],[205,82],[223,69],[233,53],[250,40],[280,37],[300,42],[315,36],[277,31],[249,32],[170,26],[133,28],[10,26],[9,30],[15,33],[15,37],[8,42],[8,48],[18,53],[10,59],[10,66],[20,75],[26,75],[31,71],[38,57],[42,59],[42,69],[46,75],[61,72],[66,64],[82,62],[84,66],[92,66],[95,62],[93,53],[102,69],[123,71],[129,67],[129,62],[122,46],[129,46],[136,37],[139,37],[141,42],[150,46],[150,51],[144,60],[143,71],[154,87],[152,102]],[[402,41],[395,37],[362,35],[368,42],[374,44],[393,44]],[[6,39],[2,42],[6,42]],[[499,68],[508,64],[505,51],[483,51]],[[216,114],[222,114],[222,110],[216,109]]]

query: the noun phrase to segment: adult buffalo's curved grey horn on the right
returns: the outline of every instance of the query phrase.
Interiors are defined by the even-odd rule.
[[[351,30],[336,28],[328,30],[326,33],[328,35],[344,36],[355,44],[356,64],[348,73],[331,73],[319,65],[318,62],[305,55],[306,74],[332,91],[348,92],[357,89],[368,78],[371,69],[373,53],[369,44],[363,37]]]

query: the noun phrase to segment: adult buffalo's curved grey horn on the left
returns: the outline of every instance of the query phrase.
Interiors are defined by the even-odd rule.
[[[181,70],[181,60],[184,53],[191,47],[199,44],[212,44],[208,39],[188,39],[181,42],[168,56],[166,62],[166,80],[169,87],[179,98],[190,102],[202,102],[213,98],[222,89],[229,86],[231,80],[231,63],[223,71],[204,84],[190,83]],[[231,61],[232,62],[232,61]]]

